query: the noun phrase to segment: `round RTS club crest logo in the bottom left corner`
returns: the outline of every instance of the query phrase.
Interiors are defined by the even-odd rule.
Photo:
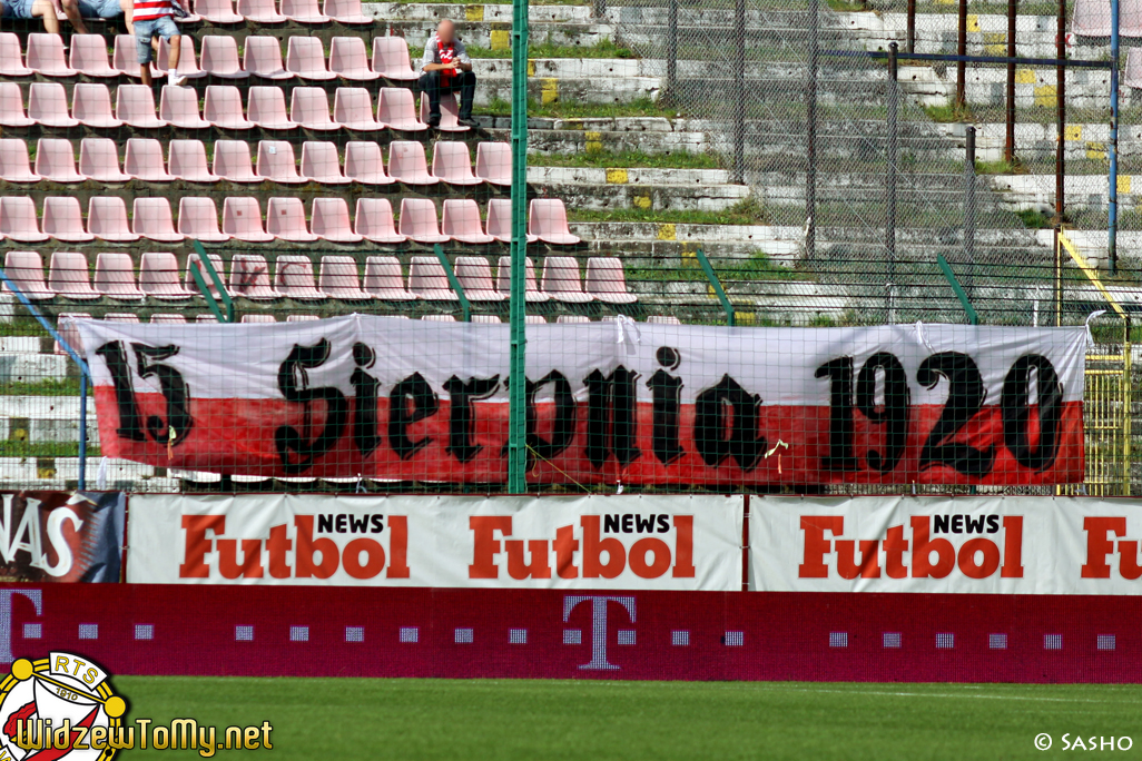
[[[19,658],[0,682],[0,761],[110,761],[127,703],[89,658]]]

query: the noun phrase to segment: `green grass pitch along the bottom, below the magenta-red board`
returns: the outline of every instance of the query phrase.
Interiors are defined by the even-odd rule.
[[[1142,756],[1139,686],[118,677],[115,687],[132,718],[273,724],[272,751],[217,759],[1052,759],[1075,754],[1064,734],[1128,736],[1134,747],[1111,758]],[[1040,732],[1051,750],[1035,747]],[[122,758],[144,756],[201,758]]]

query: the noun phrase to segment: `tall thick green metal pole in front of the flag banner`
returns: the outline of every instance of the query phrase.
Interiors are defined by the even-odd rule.
[[[524,362],[528,260],[528,0],[512,2],[512,355],[508,369],[507,491],[528,491]]]

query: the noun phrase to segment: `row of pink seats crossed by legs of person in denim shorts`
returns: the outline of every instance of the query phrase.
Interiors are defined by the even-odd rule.
[[[159,62],[166,62],[167,47],[159,48]],[[415,81],[419,74],[412,70],[409,48],[403,38],[378,37],[372,43],[372,59],[364,40],[357,37],[335,37],[325,50],[315,37],[289,38],[286,59],[282,60],[281,41],[275,37],[251,35],[243,43],[239,59],[238,41],[232,37],[207,35],[201,38],[202,55],[195,52],[194,39],[184,37],[178,60],[178,73],[187,78],[215,76],[246,79],[251,74],[270,80],[299,78],[308,81],[346,79],[372,82],[387,79],[400,82]],[[64,50],[58,34],[29,34],[27,52],[22,55],[19,39],[11,32],[0,33],[0,75],[72,78],[83,74],[96,78],[132,76],[142,72],[136,63],[135,38],[115,37],[114,50],[107,56],[107,43],[102,34],[74,34],[70,54]],[[154,76],[166,76],[164,68],[152,67]]]

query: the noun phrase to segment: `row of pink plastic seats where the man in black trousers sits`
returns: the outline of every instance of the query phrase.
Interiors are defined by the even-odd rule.
[[[421,112],[427,108],[427,98],[421,97]],[[442,100],[441,123],[444,123],[444,103],[456,122],[456,98]],[[373,118],[376,113],[376,119]],[[427,113],[425,112],[425,115]],[[242,95],[236,87],[211,84],[207,88],[203,110],[199,112],[198,92],[183,87],[163,87],[158,114],[154,92],[145,84],[122,84],[115,90],[115,107],[111,107],[111,91],[106,84],[85,82],[75,86],[72,105],[67,107],[67,94],[58,82],[32,82],[29,86],[27,111],[19,86],[0,82],[0,127],[51,127],[70,129],[79,126],[95,129],[115,129],[128,124],[136,129],[182,129],[251,130],[260,127],[268,130],[293,130],[305,128],[314,131],[333,132],[347,129],[359,132],[376,132],[396,129],[405,132],[423,132],[428,126],[421,121],[415,107],[411,90],[386,87],[380,89],[377,111],[372,110],[372,97],[364,88],[338,88],[333,95],[333,111],[330,118],[329,96],[320,87],[293,89],[290,108],[286,111],[286,94],[278,87],[251,87],[247,108],[242,111]],[[445,126],[443,131],[464,131],[460,124]]]

